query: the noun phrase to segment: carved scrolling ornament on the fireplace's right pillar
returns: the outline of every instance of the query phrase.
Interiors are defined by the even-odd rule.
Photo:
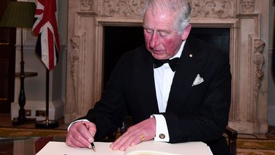
[[[263,40],[254,40],[254,64],[255,64],[255,85],[254,85],[254,101],[257,103],[258,94],[260,91],[260,81],[262,81],[264,73],[262,72],[265,59],[263,56],[263,50],[265,48],[265,42]]]

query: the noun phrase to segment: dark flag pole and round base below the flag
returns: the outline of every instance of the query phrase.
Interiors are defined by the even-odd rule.
[[[35,122],[37,128],[56,128],[59,126],[57,120],[49,120],[49,70],[46,68],[46,115],[45,120]]]

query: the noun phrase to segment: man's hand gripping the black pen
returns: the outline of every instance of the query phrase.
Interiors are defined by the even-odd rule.
[[[70,147],[88,147],[92,148],[91,142],[94,142],[94,135],[97,128],[92,122],[76,122],[69,128],[66,136],[66,144]]]

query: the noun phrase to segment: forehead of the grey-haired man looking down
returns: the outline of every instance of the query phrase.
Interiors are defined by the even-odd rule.
[[[174,25],[174,14],[149,9],[144,15],[143,24],[147,28],[172,28]]]

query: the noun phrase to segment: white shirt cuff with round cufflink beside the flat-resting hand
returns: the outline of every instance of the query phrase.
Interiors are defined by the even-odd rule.
[[[169,142],[169,133],[166,124],[165,117],[163,115],[151,115],[156,119],[156,137],[155,141],[158,142]]]

